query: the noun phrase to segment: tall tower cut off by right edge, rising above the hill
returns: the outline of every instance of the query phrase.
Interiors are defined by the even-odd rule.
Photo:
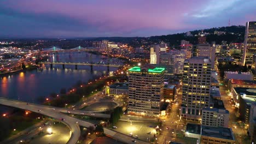
[[[252,65],[256,53],[256,21],[246,22],[245,44],[243,47],[242,64]]]

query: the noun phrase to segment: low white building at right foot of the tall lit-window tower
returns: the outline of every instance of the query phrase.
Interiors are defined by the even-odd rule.
[[[224,127],[228,128],[229,111],[217,108],[203,108],[202,109],[202,125],[210,127]]]

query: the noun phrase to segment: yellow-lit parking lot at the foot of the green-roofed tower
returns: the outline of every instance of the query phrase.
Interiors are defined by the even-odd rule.
[[[158,123],[119,121],[115,126],[117,127],[117,129],[113,129],[115,131],[126,135],[131,134],[133,137],[137,135],[138,139],[144,141],[152,141],[154,139],[154,135],[156,135],[155,127],[158,126]],[[149,132],[151,132],[151,134],[148,134]]]

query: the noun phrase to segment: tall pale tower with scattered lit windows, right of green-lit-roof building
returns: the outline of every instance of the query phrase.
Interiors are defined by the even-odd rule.
[[[201,121],[202,109],[211,107],[211,60],[191,57],[184,61],[181,117]]]

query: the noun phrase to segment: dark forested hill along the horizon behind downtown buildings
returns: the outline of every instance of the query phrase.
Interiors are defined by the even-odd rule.
[[[178,46],[181,44],[181,40],[187,40],[190,44],[197,44],[198,37],[195,36],[199,32],[209,33],[206,35],[206,41],[211,43],[211,41],[216,41],[216,44],[221,44],[222,41],[227,41],[227,43],[242,43],[245,35],[245,26],[230,26],[230,27],[218,27],[209,29],[199,29],[195,31],[190,31],[193,36],[187,37],[185,33],[168,34],[161,36],[152,37],[104,37],[104,38],[89,38],[91,41],[109,40],[114,42],[127,43],[133,47],[139,47],[142,45],[151,45],[154,43],[160,43],[164,41],[170,46]],[[223,35],[216,35],[214,31],[224,31]]]

